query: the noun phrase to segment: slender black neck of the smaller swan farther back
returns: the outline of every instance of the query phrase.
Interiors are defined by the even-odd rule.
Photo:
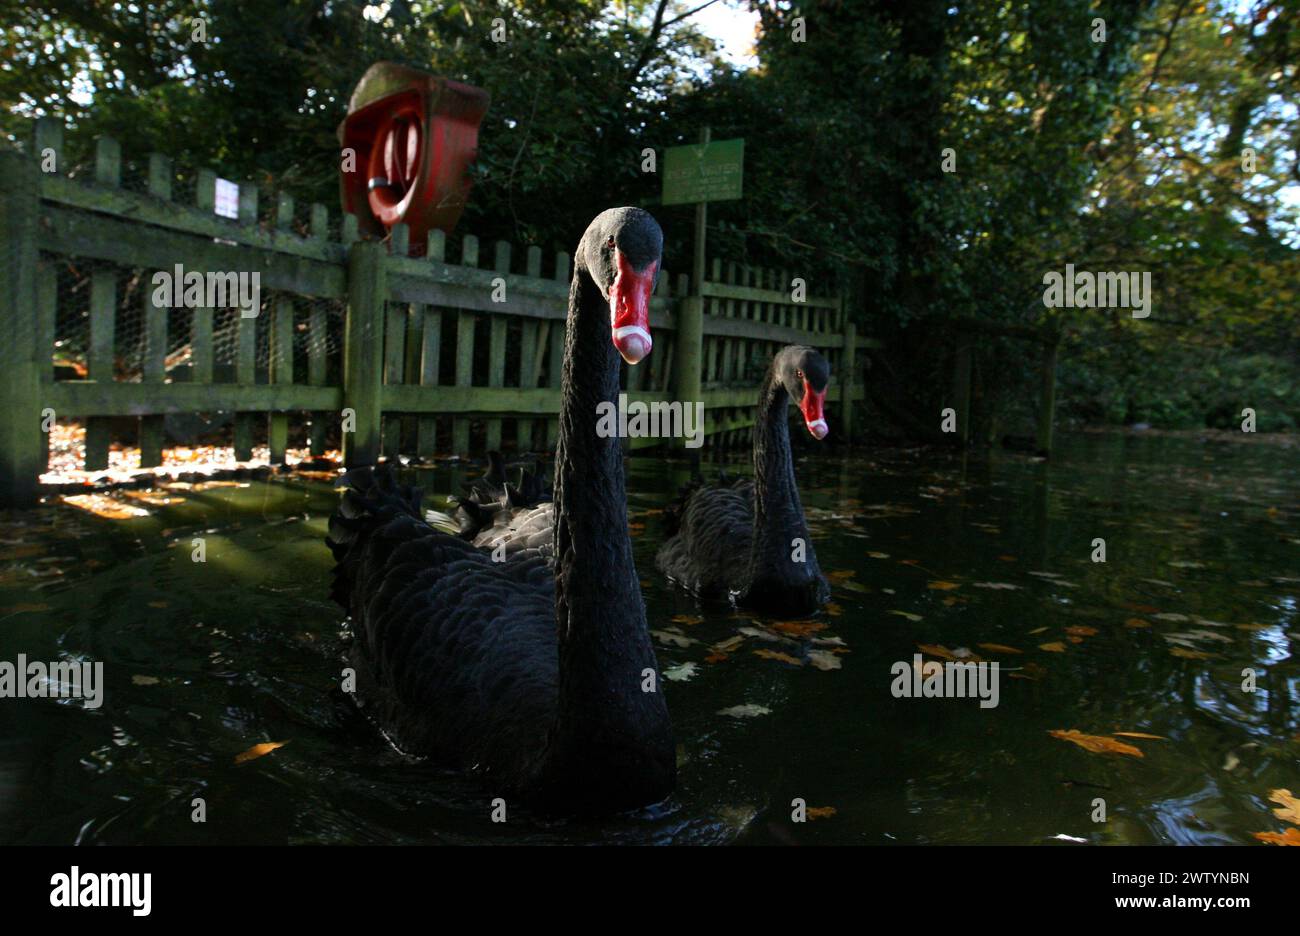
[[[758,599],[760,593],[768,590],[806,586],[822,577],[794,481],[789,394],[780,380],[777,361],[772,363],[763,380],[758,396],[758,419],[754,422],[750,599]]]

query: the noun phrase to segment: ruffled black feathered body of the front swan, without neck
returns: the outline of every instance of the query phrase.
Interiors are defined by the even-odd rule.
[[[404,750],[525,786],[555,720],[555,580],[538,555],[491,558],[420,516],[384,465],[348,472],[332,523],[333,597],[377,720]],[[455,712],[455,716],[448,716]]]

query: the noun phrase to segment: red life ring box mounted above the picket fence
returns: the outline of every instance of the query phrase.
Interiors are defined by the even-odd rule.
[[[343,211],[361,233],[382,237],[406,224],[411,252],[421,255],[430,230],[456,226],[489,100],[482,88],[394,62],[361,75],[338,127],[339,144],[355,153],[339,164]]]

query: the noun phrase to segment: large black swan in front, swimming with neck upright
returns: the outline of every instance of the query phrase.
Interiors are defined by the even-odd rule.
[[[350,472],[330,519],[332,597],[351,615],[361,698],[385,732],[547,811],[645,806],[676,780],[619,439],[595,432],[597,406],[618,400],[619,354],[650,351],[662,246],[650,214],[616,208],[575,254],[554,563],[536,550],[493,562],[434,530],[386,465]]]

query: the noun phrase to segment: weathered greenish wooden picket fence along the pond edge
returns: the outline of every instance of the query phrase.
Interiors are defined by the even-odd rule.
[[[351,419],[343,433],[348,465],[381,454],[468,454],[472,422],[482,425],[485,450],[502,446],[507,426],[520,448],[554,443],[567,254],[543,270],[538,247],[520,255],[497,243],[485,268],[477,238],[465,234],[451,263],[448,239],[434,231],[425,256],[412,257],[404,228],[368,242],[344,216],[335,237],[320,204],[299,214],[281,195],[264,217],[254,185],[239,187],[238,220],[220,217],[212,172],[198,173],[192,204],[185,204],[173,199],[172,162],[156,153],[146,190],[129,191],[120,147],[108,138],[98,140],[92,179],[69,178],[62,126],[53,121],[36,121],[32,143],[27,153],[0,153],[0,503],[39,494],[42,422],[51,415],[84,422],[90,471],[107,467],[110,420],[121,417],[139,420],[140,465],[161,464],[164,419],[174,413],[234,413],[238,459],[251,456],[256,421],[269,420],[272,463],[285,459],[291,419],[308,420],[315,454],[330,422]],[[56,172],[42,170],[49,153]],[[74,380],[56,378],[53,365],[58,269],[72,260],[92,265],[84,373]],[[142,290],[133,318],[143,329],[140,367],[124,377],[114,367],[125,315],[114,269],[147,274],[177,264],[257,272],[268,298],[255,317],[212,308],[182,317]],[[710,441],[738,441],[753,424],[758,381],[775,350],[805,343],[831,360],[829,411],[848,434],[853,402],[863,395],[855,351],[874,342],[858,338],[844,298],[810,290],[794,302],[790,277],[779,270],[714,260],[710,272],[696,291],[685,276],[660,276],[650,320],[655,350],[624,368],[629,398],[702,400]],[[226,373],[213,365],[214,328],[233,335]],[[476,356],[482,341],[486,355]],[[168,348],[178,343],[183,367],[169,365]]]

